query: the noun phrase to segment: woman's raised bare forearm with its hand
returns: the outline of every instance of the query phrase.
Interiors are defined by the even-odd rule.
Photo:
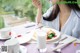
[[[36,15],[36,22],[39,24],[41,22],[41,17],[42,17],[42,4],[40,3],[39,0],[32,0],[33,5],[37,8],[37,15]]]

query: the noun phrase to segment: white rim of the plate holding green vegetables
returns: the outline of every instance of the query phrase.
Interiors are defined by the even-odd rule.
[[[53,32],[55,32],[55,34],[56,34],[56,36],[57,37],[55,37],[55,38],[52,38],[52,39],[50,39],[50,40],[46,40],[46,41],[57,41],[57,40],[59,40],[60,39],[60,33],[58,32],[58,31],[56,31],[55,29],[51,29],[51,28],[42,28],[41,30],[43,30],[43,31],[45,31],[45,32],[47,32],[48,30],[52,30]],[[36,32],[37,30],[35,30],[34,32]],[[33,32],[33,33],[34,33]],[[34,40],[37,40],[37,38],[36,37],[34,37],[34,35],[33,35],[33,37],[32,37]]]

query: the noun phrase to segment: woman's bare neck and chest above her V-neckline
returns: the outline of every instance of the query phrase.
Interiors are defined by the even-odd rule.
[[[64,26],[64,24],[66,23],[66,21],[68,20],[70,14],[71,14],[71,9],[64,5],[64,4],[60,4],[59,5],[60,8],[60,28],[59,30],[61,30],[61,28]]]

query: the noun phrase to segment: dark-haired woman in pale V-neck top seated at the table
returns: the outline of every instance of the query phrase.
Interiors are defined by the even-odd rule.
[[[59,4],[59,2],[77,2],[77,0],[50,0],[54,5],[42,16],[42,4],[33,0],[37,8],[37,23],[54,28],[67,35],[80,38],[80,8],[77,3]]]

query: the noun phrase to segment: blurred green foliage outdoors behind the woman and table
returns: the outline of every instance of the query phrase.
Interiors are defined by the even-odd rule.
[[[48,0],[40,0],[43,5],[43,13],[50,7]],[[80,0],[78,0],[80,1]],[[34,21],[36,8],[32,5],[32,0],[0,0],[0,15],[14,15],[20,18],[27,17]],[[4,26],[3,18],[0,16],[0,28]]]

